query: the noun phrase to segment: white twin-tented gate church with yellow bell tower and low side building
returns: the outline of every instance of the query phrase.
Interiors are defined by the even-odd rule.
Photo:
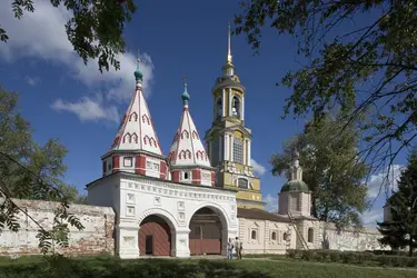
[[[251,166],[246,89],[235,72],[230,27],[222,76],[211,89],[212,125],[203,138],[185,82],[180,123],[169,153],[162,153],[143,98],[139,58],[135,78],[130,105],[101,157],[102,177],[87,186],[90,205],[115,210],[118,256],[226,255],[227,241],[236,237],[246,254],[320,248],[319,221],[310,216],[311,193],[297,153],[278,212],[265,210]]]

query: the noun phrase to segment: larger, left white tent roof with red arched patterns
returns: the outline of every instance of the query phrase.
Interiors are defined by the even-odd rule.
[[[111,150],[145,150],[162,155],[148,105],[143,98],[141,83],[137,83]]]

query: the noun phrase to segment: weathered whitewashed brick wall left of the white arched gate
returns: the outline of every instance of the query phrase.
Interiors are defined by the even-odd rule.
[[[0,200],[2,201],[2,200]],[[14,202],[34,218],[44,229],[52,227],[58,202],[18,200]],[[69,212],[75,214],[85,226],[82,231],[70,227],[70,245],[59,250],[63,254],[93,255],[100,252],[115,252],[115,212],[109,207],[96,207],[85,205],[71,205]],[[11,255],[37,255],[39,239],[38,226],[23,212],[18,215],[20,230],[18,232],[4,229],[0,231],[0,256]]]

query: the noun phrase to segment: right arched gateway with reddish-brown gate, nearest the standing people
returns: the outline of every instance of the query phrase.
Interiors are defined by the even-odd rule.
[[[189,225],[189,247],[191,255],[221,254],[221,219],[211,208],[200,208],[192,216]]]

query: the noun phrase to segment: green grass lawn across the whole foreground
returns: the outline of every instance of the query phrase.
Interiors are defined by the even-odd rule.
[[[111,257],[75,258],[58,262],[53,268],[33,259],[0,260],[1,278],[401,278],[417,277],[415,270],[373,269],[336,264],[276,260],[198,260],[198,259],[136,259]]]

